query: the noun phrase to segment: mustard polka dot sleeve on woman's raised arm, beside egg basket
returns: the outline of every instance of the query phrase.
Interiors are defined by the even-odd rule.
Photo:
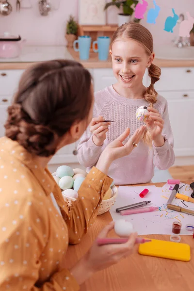
[[[94,223],[97,208],[112,181],[112,178],[93,167],[81,184],[79,197],[72,206],[63,209],[64,202],[61,203],[62,215],[69,230],[69,243],[79,243],[83,234]]]

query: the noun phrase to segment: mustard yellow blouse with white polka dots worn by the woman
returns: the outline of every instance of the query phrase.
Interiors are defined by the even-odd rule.
[[[94,222],[111,183],[93,167],[69,207],[37,158],[0,138],[0,290],[79,290],[61,263],[68,243],[78,243]]]

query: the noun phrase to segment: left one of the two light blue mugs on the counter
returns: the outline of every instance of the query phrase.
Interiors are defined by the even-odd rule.
[[[76,48],[78,44],[78,49]],[[88,35],[79,36],[77,40],[73,42],[73,48],[75,51],[79,51],[81,60],[88,60],[90,54],[91,37]]]

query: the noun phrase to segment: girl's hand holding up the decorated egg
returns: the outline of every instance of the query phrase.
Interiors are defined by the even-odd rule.
[[[154,145],[163,146],[164,138],[162,137],[162,129],[164,121],[162,116],[158,110],[153,107],[148,107],[147,110],[149,111],[149,118],[145,121],[147,130],[154,141]]]

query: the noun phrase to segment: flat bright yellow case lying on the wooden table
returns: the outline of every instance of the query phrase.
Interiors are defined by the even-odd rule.
[[[139,254],[151,257],[190,261],[190,245],[179,242],[152,240],[139,245]]]

